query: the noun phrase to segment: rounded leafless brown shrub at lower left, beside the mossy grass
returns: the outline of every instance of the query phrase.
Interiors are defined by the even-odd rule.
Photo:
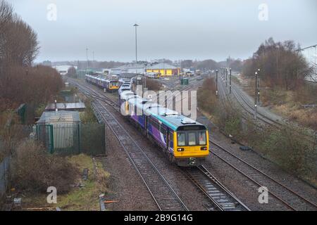
[[[49,186],[55,186],[58,193],[65,193],[77,178],[77,170],[66,158],[49,155],[30,139],[16,148],[11,169],[15,188],[31,192],[46,192]]]

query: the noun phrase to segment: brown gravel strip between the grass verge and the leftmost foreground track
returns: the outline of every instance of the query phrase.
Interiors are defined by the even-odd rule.
[[[158,210],[118,139],[108,127],[106,127],[106,158],[101,162],[104,169],[111,174],[109,179],[111,193],[108,193],[105,199],[119,201],[106,204],[107,210]]]

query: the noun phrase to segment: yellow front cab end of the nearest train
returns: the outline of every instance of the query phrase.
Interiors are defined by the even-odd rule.
[[[173,134],[174,158],[180,167],[201,165],[209,155],[209,131],[204,126],[178,127]]]

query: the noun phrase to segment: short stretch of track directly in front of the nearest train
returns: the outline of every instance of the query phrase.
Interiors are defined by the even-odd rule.
[[[250,211],[206,167],[200,165],[184,169],[184,172],[190,181],[211,201],[211,205],[206,205],[207,210],[214,210],[216,207],[216,210],[220,211]]]

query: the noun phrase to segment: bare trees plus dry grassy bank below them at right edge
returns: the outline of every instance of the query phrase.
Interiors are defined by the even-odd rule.
[[[242,75],[254,96],[254,73],[260,84],[260,98],[263,106],[293,122],[316,130],[317,85],[306,82],[307,77],[316,75],[316,65],[306,60],[299,45],[292,40],[274,41],[269,38],[259,46],[253,56],[244,60]]]

